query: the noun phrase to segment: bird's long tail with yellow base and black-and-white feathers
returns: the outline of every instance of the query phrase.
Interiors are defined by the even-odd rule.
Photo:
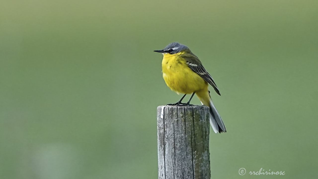
[[[200,99],[201,103],[210,107],[210,124],[212,129],[215,133],[226,132],[224,123],[215,108],[214,104],[212,103],[209,91],[207,89],[197,91],[196,92],[198,98]]]

